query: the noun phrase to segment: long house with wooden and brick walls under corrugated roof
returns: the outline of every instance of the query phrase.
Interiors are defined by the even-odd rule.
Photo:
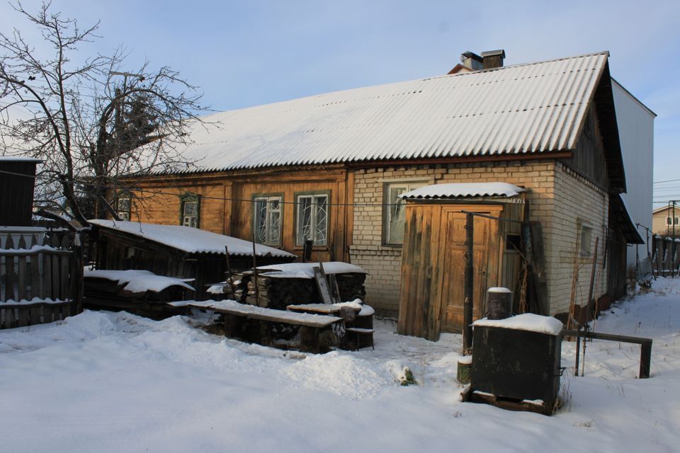
[[[514,66],[503,66],[503,58],[501,51],[473,55],[453,74],[210,115],[180,150],[195,167],[135,178],[134,202],[120,195],[118,206],[132,220],[254,237],[296,255],[312,241],[312,260],[360,265],[370,274],[367,302],[401,318],[415,316],[400,312],[399,299],[409,265],[404,231],[413,231],[407,211],[418,203],[403,196],[432,185],[512,185],[518,193],[512,197],[458,186],[429,200],[440,205],[429,212],[442,216],[443,205],[459,205],[454,211],[467,207],[540,225],[546,314],[568,311],[572,294],[587,306],[593,267],[594,298],[616,297],[626,243],[642,239],[621,199],[626,179],[608,53]],[[421,226],[446,234],[460,228],[453,217]],[[521,239],[497,222],[480,226],[478,291],[504,283],[517,292],[511,255]],[[434,319],[460,304],[450,296],[458,289],[441,286],[462,280],[460,254],[441,243],[437,260],[418,258],[431,260],[419,261],[426,269],[416,285],[421,293],[432,285],[427,269],[450,264],[440,286],[429,287],[440,294]],[[579,291],[572,291],[574,270]],[[480,315],[483,297],[477,300]],[[437,326],[431,338],[461,327]]]

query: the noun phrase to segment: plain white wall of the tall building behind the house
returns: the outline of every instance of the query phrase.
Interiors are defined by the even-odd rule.
[[[634,222],[652,228],[652,168],[654,166],[655,113],[612,79],[618,136],[621,140],[626,193],[623,194]],[[638,229],[647,240],[645,230]],[[635,246],[628,247],[628,265],[635,265]],[[640,246],[640,257],[647,254]]]

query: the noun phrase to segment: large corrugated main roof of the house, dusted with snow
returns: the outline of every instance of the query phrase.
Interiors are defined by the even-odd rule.
[[[574,149],[606,52],[369,86],[205,117],[198,171]],[[196,171],[192,169],[191,171]]]

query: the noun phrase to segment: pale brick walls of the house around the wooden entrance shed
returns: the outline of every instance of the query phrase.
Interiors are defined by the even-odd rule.
[[[527,199],[531,220],[543,227],[548,301],[550,314],[569,309],[578,222],[593,228],[591,248],[600,237],[596,296],[606,292],[606,273],[602,270],[603,244],[608,219],[606,193],[554,161],[431,165],[402,168],[371,168],[355,173],[354,202],[382,202],[383,186],[390,180],[423,178],[429,183],[472,183],[504,181],[529,189]],[[358,206],[354,211],[352,263],[368,270],[367,302],[380,314],[397,316],[402,253],[401,248],[382,245],[382,208]],[[590,257],[577,257],[579,284],[577,304],[588,297]]]

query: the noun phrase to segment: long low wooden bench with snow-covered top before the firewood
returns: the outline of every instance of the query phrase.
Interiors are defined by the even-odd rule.
[[[189,302],[186,304],[191,308],[203,309],[220,313],[225,321],[225,336],[229,338],[242,338],[254,343],[276,345],[270,338],[266,329],[263,329],[259,321],[263,323],[283,323],[291,326],[298,326],[300,333],[299,348],[308,352],[326,352],[329,344],[322,341],[324,331],[330,331],[328,336],[332,336],[332,329],[335,323],[342,321],[337,316],[325,316],[319,314],[294,313],[267,309],[261,306],[239,304],[234,301],[207,301]],[[248,321],[258,321],[250,323]]]

